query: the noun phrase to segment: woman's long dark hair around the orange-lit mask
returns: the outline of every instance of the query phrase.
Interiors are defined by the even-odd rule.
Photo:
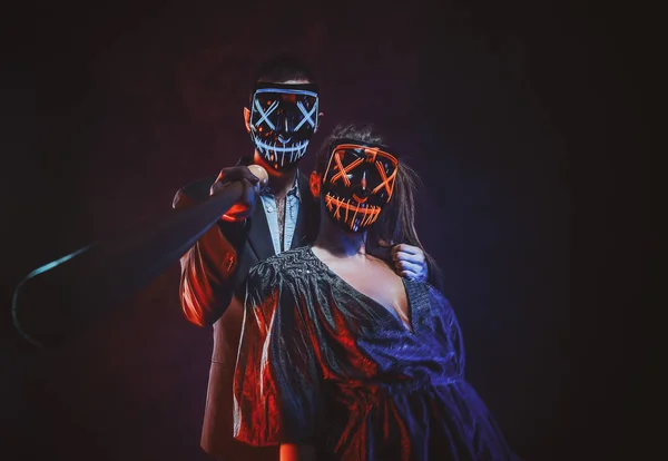
[[[325,173],[330,147],[336,138],[384,145],[383,137],[375,131],[372,124],[340,124],[323,141],[317,153],[315,173],[320,176]],[[390,154],[392,154],[391,149]],[[415,170],[399,156],[399,168],[392,199],[383,207],[379,219],[369,228],[366,246],[367,248],[370,246],[377,247],[379,242],[384,241],[391,245],[404,243],[421,248],[424,252],[429,267],[429,282],[436,288],[442,290],[441,269],[434,258],[424,249],[415,229],[415,193],[419,184],[420,177]]]

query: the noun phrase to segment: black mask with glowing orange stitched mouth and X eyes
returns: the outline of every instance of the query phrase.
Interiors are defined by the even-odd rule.
[[[392,198],[399,161],[383,146],[336,139],[321,194],[330,216],[348,232],[362,232]]]

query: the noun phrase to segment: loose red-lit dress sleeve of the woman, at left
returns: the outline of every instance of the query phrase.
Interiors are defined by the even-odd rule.
[[[234,435],[256,447],[310,442],[320,404],[313,328],[276,274],[266,262],[249,273],[235,371]]]

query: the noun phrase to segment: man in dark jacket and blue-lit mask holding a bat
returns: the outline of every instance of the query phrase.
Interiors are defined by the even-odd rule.
[[[233,377],[242,330],[238,308],[229,308],[235,292],[252,266],[289,248],[311,244],[317,233],[318,203],[308,179],[297,169],[308,141],[318,128],[318,89],[311,70],[279,56],[261,66],[249,107],[244,108],[246,130],[255,150],[217,177],[189,184],[177,192],[174,206],[206,200],[233,182],[244,184],[244,197],[181,257],[180,301],[184,314],[200,326],[214,325],[202,447],[225,461],[278,459],[277,448],[250,448],[233,438]],[[268,173],[268,184],[247,166]],[[387,258],[411,278],[426,277],[424,254],[410,245],[395,245]]]

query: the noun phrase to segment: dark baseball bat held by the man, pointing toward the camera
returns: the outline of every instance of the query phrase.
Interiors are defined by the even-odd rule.
[[[266,183],[262,167],[249,169],[259,184]],[[40,347],[55,347],[76,336],[177,262],[243,192],[240,182],[230,183],[205,202],[170,209],[150,225],[94,242],[32,271],[13,294],[16,328]]]

